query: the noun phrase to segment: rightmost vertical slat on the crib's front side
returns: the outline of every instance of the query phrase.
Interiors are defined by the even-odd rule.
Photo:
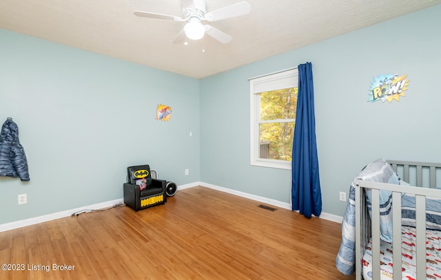
[[[426,197],[416,194],[416,279],[426,279]]]

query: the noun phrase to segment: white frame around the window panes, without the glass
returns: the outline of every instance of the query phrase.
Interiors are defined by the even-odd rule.
[[[291,68],[266,74],[260,77],[249,79],[250,88],[250,148],[251,165],[269,168],[280,168],[291,170],[291,161],[281,161],[276,159],[261,159],[259,157],[259,124],[260,121],[260,93],[271,90],[281,90],[284,88],[298,87],[298,70]],[[280,122],[285,120],[280,119]],[[291,121],[291,120],[289,120]]]

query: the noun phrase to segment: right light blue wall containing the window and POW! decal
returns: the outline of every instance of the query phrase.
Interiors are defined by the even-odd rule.
[[[441,161],[441,6],[201,80],[201,181],[289,203],[291,171],[249,165],[251,77],[311,61],[323,212],[342,216],[369,161]],[[295,28],[295,27],[293,27]],[[407,74],[406,96],[368,103],[380,74]]]

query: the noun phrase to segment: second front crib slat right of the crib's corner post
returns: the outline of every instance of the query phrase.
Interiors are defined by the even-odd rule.
[[[393,279],[402,279],[401,276],[401,192],[392,192],[392,219],[393,219]]]

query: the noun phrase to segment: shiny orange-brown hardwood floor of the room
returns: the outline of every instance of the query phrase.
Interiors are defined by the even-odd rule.
[[[355,279],[334,266],[339,223],[259,204],[196,187],[0,232],[0,263],[23,268],[0,279]]]

